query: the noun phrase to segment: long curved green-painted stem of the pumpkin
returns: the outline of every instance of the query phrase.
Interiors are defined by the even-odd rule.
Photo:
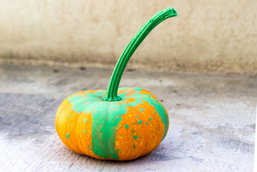
[[[177,11],[173,8],[167,8],[162,11],[156,13],[153,17],[151,17],[142,27],[141,29],[135,34],[129,44],[126,46],[124,51],[122,52],[115,68],[112,73],[112,77],[110,79],[110,83],[108,85],[107,93],[104,96],[104,101],[119,101],[121,97],[117,95],[118,86],[120,84],[121,76],[124,72],[124,69],[132,56],[135,52],[137,47],[141,44],[141,42],[145,39],[145,37],[163,20],[177,16]]]

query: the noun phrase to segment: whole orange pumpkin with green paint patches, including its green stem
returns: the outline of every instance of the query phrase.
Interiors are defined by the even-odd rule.
[[[177,16],[167,8],[151,17],[122,52],[107,90],[67,97],[56,112],[58,136],[72,151],[105,160],[132,160],[160,144],[169,128],[165,107],[142,88],[118,88],[127,62],[161,21]]]

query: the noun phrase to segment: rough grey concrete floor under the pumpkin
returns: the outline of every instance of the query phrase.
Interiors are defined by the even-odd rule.
[[[132,161],[72,152],[55,130],[69,95],[106,89],[112,70],[0,65],[1,171],[252,171],[257,76],[125,71],[120,87],[141,87],[169,113],[166,138]]]

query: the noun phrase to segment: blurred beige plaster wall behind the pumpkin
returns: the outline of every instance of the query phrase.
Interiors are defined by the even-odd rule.
[[[256,0],[0,1],[0,64],[114,67],[157,11],[130,69],[257,75]]]

